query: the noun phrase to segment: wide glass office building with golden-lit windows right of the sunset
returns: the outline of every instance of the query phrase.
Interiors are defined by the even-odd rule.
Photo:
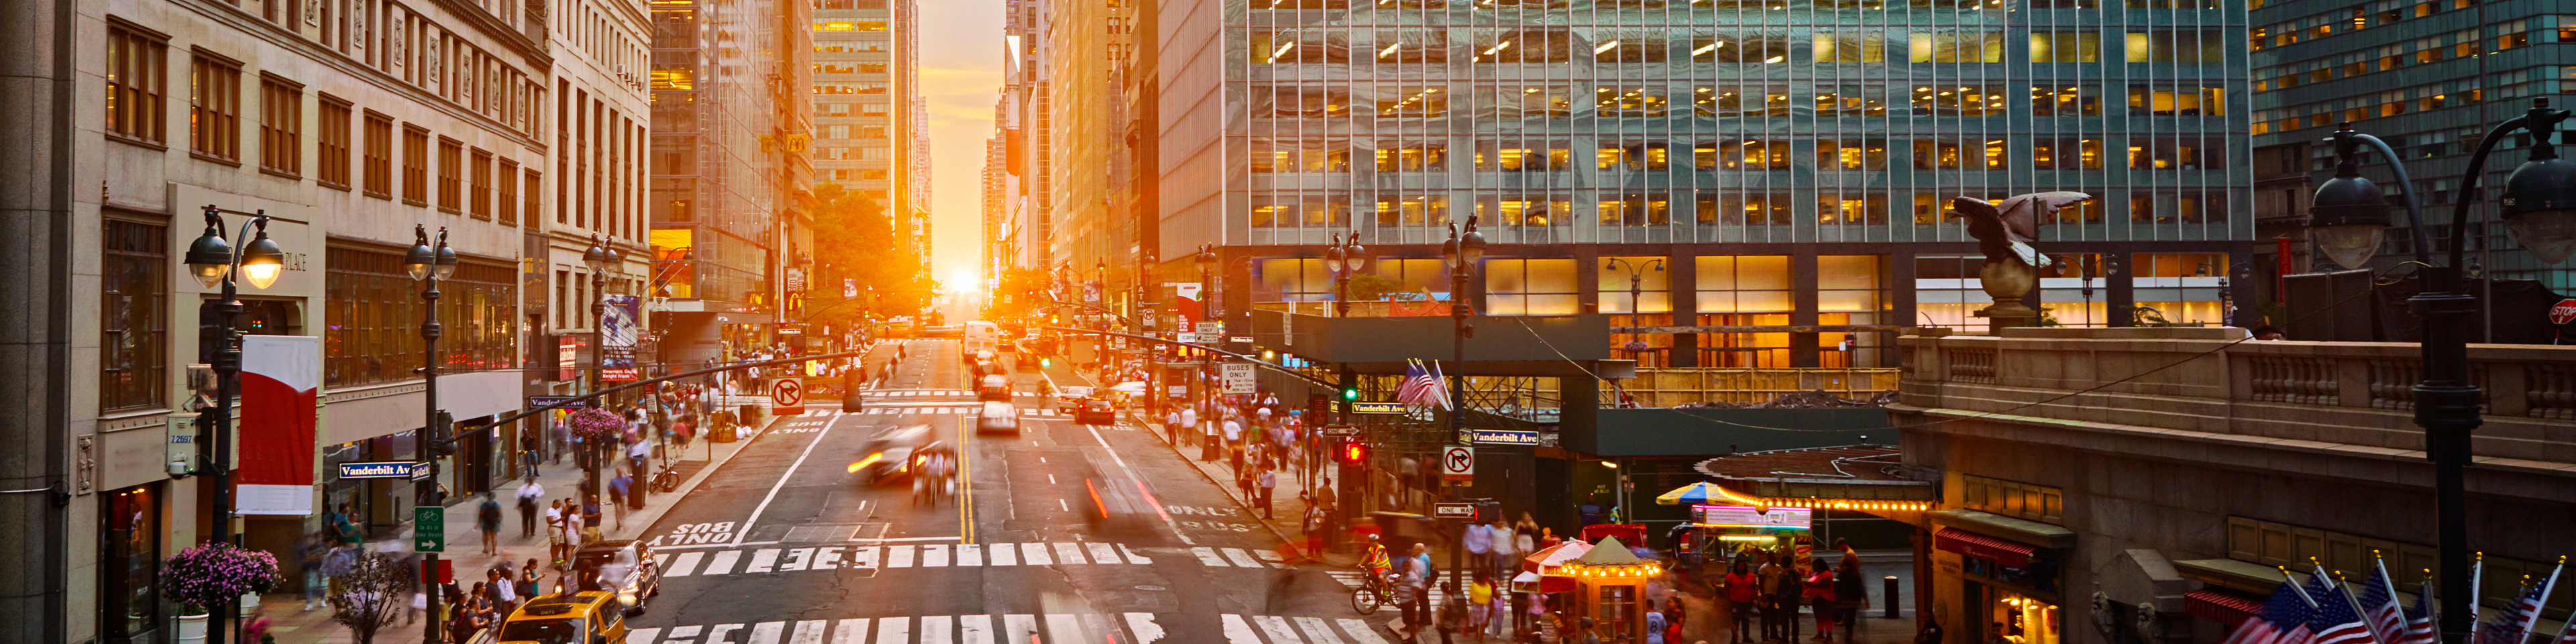
[[[2053,319],[2218,322],[2254,229],[2244,21],[2239,0],[1229,3],[1229,167],[1203,185],[1224,227],[1167,222],[1164,247],[1218,242],[1249,258],[1229,301],[1293,307],[1332,299],[1316,258],[1355,229],[1386,291],[1448,299],[1437,245],[1476,214],[1484,312],[1780,327],[1615,337],[1672,348],[1646,363],[1893,366],[1893,332],[1844,353],[1790,325],[1981,327],[1947,201],[2084,191],[2038,242],[2071,268]]]

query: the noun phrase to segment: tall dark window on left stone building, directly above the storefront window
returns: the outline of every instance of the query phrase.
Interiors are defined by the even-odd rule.
[[[160,407],[167,399],[167,363],[162,350],[170,245],[167,229],[108,219],[100,240],[98,265],[98,410]]]

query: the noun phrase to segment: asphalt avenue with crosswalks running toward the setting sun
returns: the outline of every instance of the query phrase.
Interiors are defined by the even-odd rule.
[[[1020,435],[974,435],[958,343],[907,348],[866,410],[770,425],[644,533],[665,582],[629,644],[1391,639],[1368,626],[1391,611],[1363,623],[1327,569],[1280,567],[1278,536],[1149,430],[1074,425],[1023,394]],[[1036,374],[1018,381],[1036,392]],[[848,471],[907,425],[958,446],[956,502]],[[1141,487],[1146,513],[1087,520],[1087,484]]]

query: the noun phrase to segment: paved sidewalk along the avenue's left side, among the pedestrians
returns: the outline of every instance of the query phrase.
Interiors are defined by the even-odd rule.
[[[876,358],[873,350],[876,348],[871,345],[871,358]],[[744,402],[750,402],[750,399],[744,399]],[[762,397],[757,402],[765,404],[768,399]],[[822,412],[822,410],[819,407],[809,410],[809,415],[814,415],[814,412]],[[680,500],[688,492],[698,489],[698,484],[703,484],[716,469],[721,469],[726,461],[732,461],[734,453],[742,453],[744,448],[750,448],[752,440],[760,438],[760,433],[765,433],[781,417],[775,417],[775,415],[762,415],[760,428],[757,430],[750,430],[750,428],[737,430],[737,440],[734,443],[711,443],[711,440],[706,440],[706,433],[701,433],[698,440],[690,440],[685,448],[672,448],[670,466],[672,466],[672,471],[680,471],[680,477],[683,477],[680,487],[672,489],[672,492],[647,492],[644,507],[641,510],[629,510],[626,518],[623,518],[623,526],[616,518],[616,510],[603,507],[600,520],[605,526],[600,526],[600,538],[641,538],[644,531],[652,528],[652,523],[662,518],[662,513],[670,513],[670,507],[675,505],[675,500]],[[662,459],[654,459],[654,469],[659,469],[659,466],[662,466]],[[562,464],[538,461],[536,471],[538,471],[536,484],[546,487],[546,500],[549,502],[580,495],[582,469],[574,466],[572,459],[564,459]],[[608,469],[603,469],[603,477],[613,477],[613,474],[608,474]],[[544,502],[538,505],[536,533],[533,536],[520,536],[520,528],[518,528],[518,484],[523,484],[523,482],[526,479],[513,479],[513,482],[492,489],[492,495],[497,495],[497,500],[502,505],[502,528],[500,528],[500,538],[495,544],[497,554],[482,554],[482,531],[474,528],[474,523],[477,523],[474,515],[482,510],[482,497],[484,495],[453,497],[448,502],[448,526],[446,526],[448,528],[448,551],[443,551],[440,559],[451,562],[448,567],[456,574],[459,585],[471,587],[474,582],[482,582],[484,580],[482,577],[484,569],[489,569],[495,564],[502,564],[502,562],[510,562],[513,567],[518,567],[518,564],[523,564],[528,559],[546,562],[546,518],[544,518]],[[404,531],[402,538],[407,544],[410,541],[410,531]],[[283,564],[294,567],[294,562],[283,562]],[[299,572],[289,569],[286,574],[299,574]],[[556,572],[549,567],[544,582],[551,585],[554,574]],[[314,608],[314,611],[304,611],[304,595],[301,592],[268,592],[268,595],[260,595],[260,611],[263,611],[263,616],[270,618],[270,629],[268,631],[278,639],[278,644],[353,644],[355,641],[355,636],[350,636],[348,626],[340,626],[340,623],[335,623],[330,618],[330,605],[322,605],[322,608]],[[384,631],[376,631],[376,644],[417,644],[420,636],[422,636],[422,626],[417,621],[412,621],[407,626],[404,623],[394,623],[394,626],[389,626]]]

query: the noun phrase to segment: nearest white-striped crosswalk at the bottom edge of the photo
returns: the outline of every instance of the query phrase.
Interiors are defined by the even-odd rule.
[[[1177,641],[1157,613],[1002,613],[636,626],[626,644],[1092,644]],[[1226,644],[1386,644],[1360,618],[1218,613]]]

